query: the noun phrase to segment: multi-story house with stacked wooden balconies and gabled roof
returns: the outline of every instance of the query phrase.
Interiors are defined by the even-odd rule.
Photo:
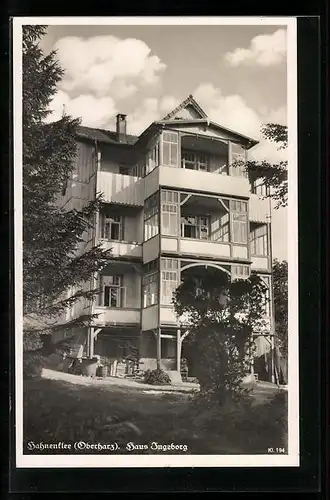
[[[103,194],[86,245],[102,242],[112,257],[94,283],[93,304],[76,304],[68,319],[98,314],[81,331],[87,355],[121,358],[139,350],[145,369],[157,359],[180,368],[184,338],[172,306],[181,277],[205,266],[232,278],[257,271],[271,297],[271,221],[264,186],[251,186],[235,160],[246,160],[257,141],[209,120],[190,95],[139,136],[117,116],[115,132],[80,127],[74,174],[62,203],[81,207]],[[272,346],[257,335],[257,357]]]

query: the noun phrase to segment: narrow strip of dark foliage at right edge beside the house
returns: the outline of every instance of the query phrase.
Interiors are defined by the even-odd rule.
[[[280,351],[288,353],[288,262],[273,261],[275,331]]]

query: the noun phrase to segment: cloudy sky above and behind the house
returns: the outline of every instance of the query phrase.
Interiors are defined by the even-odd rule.
[[[193,94],[209,118],[256,138],[256,159],[285,159],[260,136],[287,123],[285,26],[49,26],[41,42],[65,71],[50,119],[65,110],[113,130],[127,114],[140,134]],[[273,210],[273,257],[287,258],[287,209]]]

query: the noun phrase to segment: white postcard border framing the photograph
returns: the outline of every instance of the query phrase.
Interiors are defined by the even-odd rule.
[[[22,265],[22,26],[30,25],[265,25],[287,27],[288,103],[288,454],[287,455],[24,455]],[[297,467],[299,466],[297,23],[296,17],[14,17],[14,265],[16,466],[48,467]]]

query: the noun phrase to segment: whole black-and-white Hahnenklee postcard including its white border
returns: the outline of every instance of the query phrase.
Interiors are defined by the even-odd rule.
[[[299,466],[296,45],[14,18],[17,467]]]

